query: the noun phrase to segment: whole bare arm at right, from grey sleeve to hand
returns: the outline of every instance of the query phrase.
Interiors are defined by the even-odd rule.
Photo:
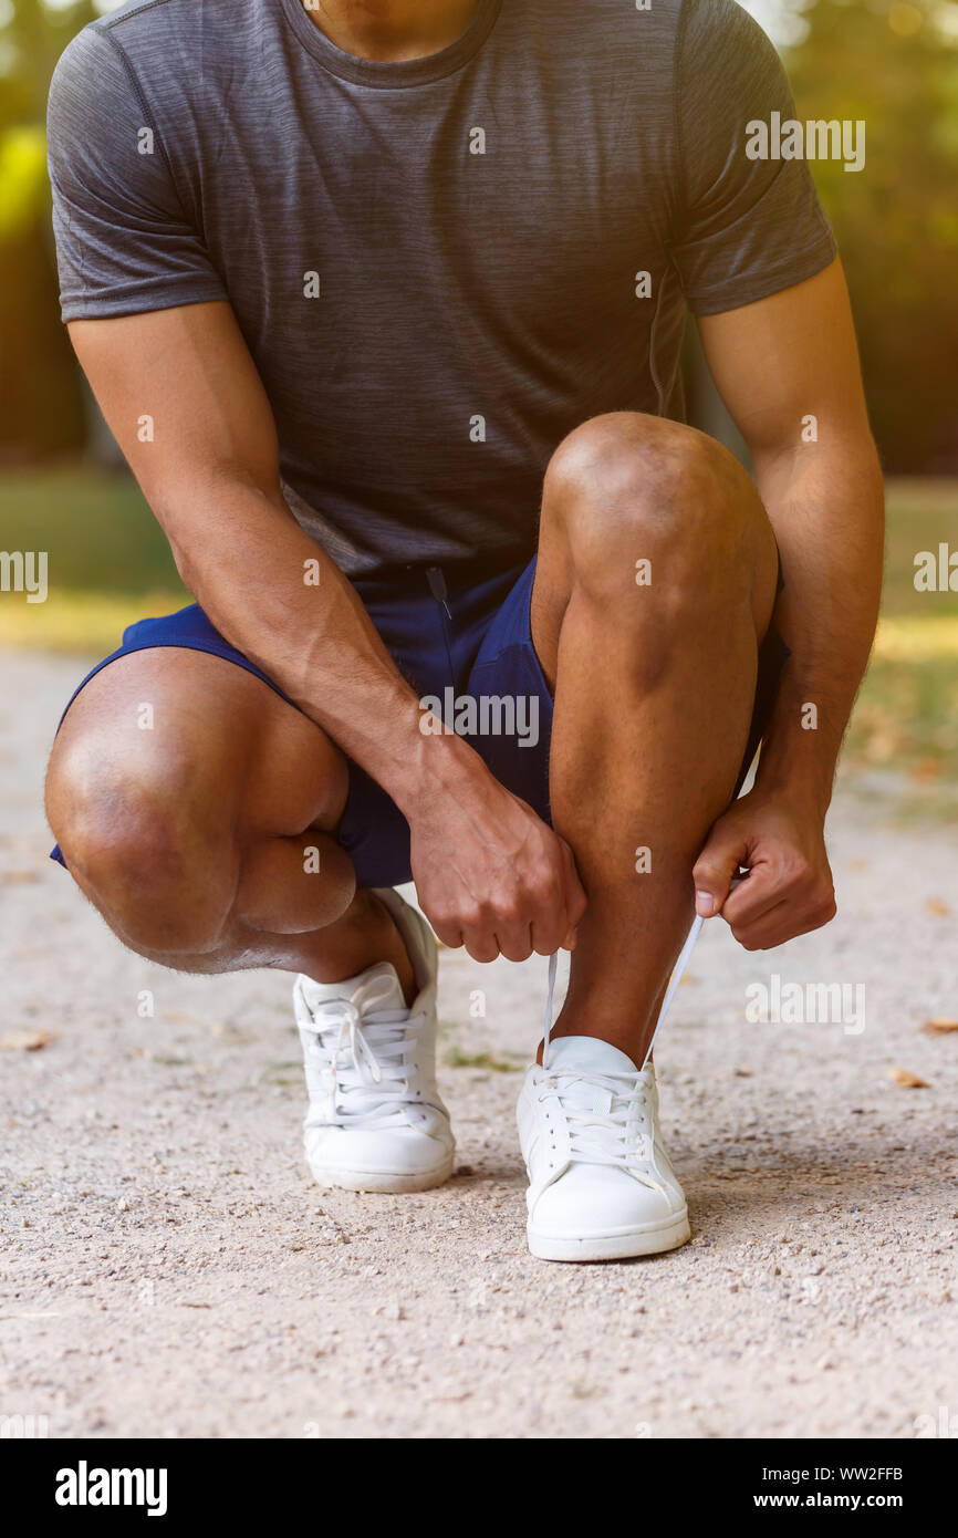
[[[767,883],[744,883],[723,909],[737,937],[757,949],[833,914],[821,827],[875,632],[884,503],[838,261],[770,298],[706,317],[700,331],[718,391],[752,451],[786,578],[777,621],[792,658],[757,786],[717,824],[697,867],[697,886],[704,877],[712,891],[715,867],[721,886],[749,820],[761,814],[766,831],[777,818],[792,823],[778,840],[793,846],[780,849],[778,884],[767,871]],[[798,891],[789,884],[789,869],[804,872],[804,898],[801,881]]]

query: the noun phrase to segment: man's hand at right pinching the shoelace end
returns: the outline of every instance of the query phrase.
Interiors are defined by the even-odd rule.
[[[738,867],[747,877],[729,897]],[[746,950],[770,950],[835,917],[824,818],[786,795],[752,791],[718,818],[692,871],[695,910],[721,914]]]

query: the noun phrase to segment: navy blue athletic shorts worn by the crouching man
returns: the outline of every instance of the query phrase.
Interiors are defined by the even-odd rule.
[[[534,577],[535,558],[481,580],[454,577],[435,566],[400,568],[374,581],[354,580],[354,586],[420,698],[431,697],[431,707],[471,741],[495,778],[527,801],[543,821],[551,821],[552,695],[532,644]],[[177,614],[131,624],[117,651],[86,675],[66,709],[101,667],[152,646],[223,657],[286,700],[278,684],[231,646],[194,603]],[[752,731],[738,786],[767,726],[787,655],[772,628],[760,651]],[[360,886],[398,886],[411,880],[409,824],[383,787],[352,761],[337,838],[355,866]],[[58,846],[52,858],[63,864]]]

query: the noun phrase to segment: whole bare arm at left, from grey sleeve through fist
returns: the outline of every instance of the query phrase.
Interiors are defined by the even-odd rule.
[[[529,934],[543,954],[572,941],[584,900],[569,851],[467,743],[420,731],[418,698],[355,589],[289,512],[272,411],[231,306],[69,332],[191,592],[406,815],[440,938],[478,960],[521,950]],[[304,580],[315,561],[318,584]]]

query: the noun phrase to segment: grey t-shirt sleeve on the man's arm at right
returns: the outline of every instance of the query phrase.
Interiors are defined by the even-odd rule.
[[[714,315],[821,272],[835,240],[804,160],[750,160],[747,125],[795,105],[775,48],[733,0],[684,0],[677,38],[680,206],[672,257]]]

